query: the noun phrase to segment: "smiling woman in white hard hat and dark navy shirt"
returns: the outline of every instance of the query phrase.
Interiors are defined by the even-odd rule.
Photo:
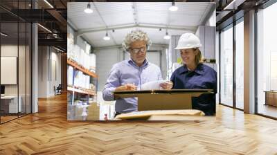
[[[202,64],[202,53],[199,50],[201,46],[199,38],[193,33],[181,35],[175,49],[180,50],[184,66],[172,73],[172,89],[213,89],[217,92],[217,73],[210,66]],[[215,93],[193,98],[193,109],[203,111],[206,116],[214,115]]]

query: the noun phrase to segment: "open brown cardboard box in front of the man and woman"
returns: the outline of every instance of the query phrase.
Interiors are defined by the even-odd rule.
[[[202,93],[213,93],[212,89],[172,89],[172,90],[149,90],[149,91],[115,91],[114,97],[118,98],[138,98],[138,111],[159,111],[159,115],[168,114],[168,110],[192,109],[192,97],[198,97]],[[151,113],[145,112],[149,118]],[[132,119],[131,117],[126,119]],[[183,114],[186,115],[186,114]],[[187,115],[192,115],[187,113]],[[129,115],[130,116],[130,115]],[[204,116],[204,115],[199,115]],[[137,113],[134,117],[138,118]],[[152,117],[153,118],[153,117]],[[166,120],[166,118],[163,118]]]

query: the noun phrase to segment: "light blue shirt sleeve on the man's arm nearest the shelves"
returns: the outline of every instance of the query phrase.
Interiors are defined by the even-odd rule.
[[[120,79],[118,76],[118,69],[116,65],[111,68],[107,82],[102,91],[102,97],[106,101],[114,100],[114,90],[116,87],[120,86]]]

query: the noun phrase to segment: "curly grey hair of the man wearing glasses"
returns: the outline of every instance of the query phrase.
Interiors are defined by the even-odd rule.
[[[147,33],[142,30],[132,30],[131,33],[128,33],[122,43],[123,49],[128,51],[132,42],[143,40],[146,42],[146,45],[149,47],[152,42],[148,37]]]

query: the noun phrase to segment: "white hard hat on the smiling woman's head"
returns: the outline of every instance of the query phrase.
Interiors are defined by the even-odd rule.
[[[201,46],[200,39],[196,35],[193,33],[184,33],[181,35],[178,46],[175,49],[199,48]]]

